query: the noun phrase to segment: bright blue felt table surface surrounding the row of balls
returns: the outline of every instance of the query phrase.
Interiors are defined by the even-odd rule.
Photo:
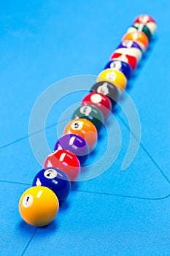
[[[130,139],[128,120],[120,110],[117,121],[108,121],[102,130],[87,162],[90,167],[80,178],[97,175],[92,164],[106,151],[108,131],[113,148],[100,165],[104,173],[73,184],[51,225],[27,225],[20,218],[18,200],[41,168],[29,138],[41,138],[45,132],[52,151],[61,114],[72,107],[59,122],[60,135],[73,105],[86,92],[63,97],[50,110],[45,131],[29,135],[36,99],[58,80],[98,75],[136,15],[144,12],[157,20],[158,31],[127,91],[142,125],[141,143],[133,137],[133,145],[139,146],[134,162],[120,170]],[[9,0],[1,3],[0,21],[0,255],[170,255],[169,1]],[[58,94],[72,89],[68,83]],[[128,108],[127,102],[122,99]],[[122,143],[112,163],[119,149],[117,124]],[[41,141],[39,150],[45,157]]]

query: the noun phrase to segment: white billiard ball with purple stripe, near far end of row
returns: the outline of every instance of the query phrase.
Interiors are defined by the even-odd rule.
[[[118,45],[117,49],[115,50],[115,53],[124,53],[130,56],[134,56],[137,58],[137,61],[139,62],[140,59],[142,58],[143,52],[136,42],[132,40],[125,40],[121,42],[120,45]]]

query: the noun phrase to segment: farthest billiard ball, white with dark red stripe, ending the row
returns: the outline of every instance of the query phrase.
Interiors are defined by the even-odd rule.
[[[155,22],[155,20],[150,16],[150,15],[139,15],[135,20],[134,20],[134,24],[135,23],[142,23],[144,25],[147,26],[148,29],[150,29],[151,34],[155,34],[155,31],[157,29],[157,24]]]

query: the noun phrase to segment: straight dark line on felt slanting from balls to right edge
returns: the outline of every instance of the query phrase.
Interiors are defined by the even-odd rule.
[[[129,129],[129,127],[128,127],[128,125],[127,125],[127,124],[125,123],[125,121],[123,120],[123,118],[121,118],[120,116],[118,116],[118,118],[120,118],[120,121],[123,123],[123,125],[125,126],[125,128],[128,129],[129,132],[131,132],[130,129]],[[136,139],[136,141],[139,143],[139,140],[138,140],[138,139],[136,138],[136,136],[134,135],[134,132],[131,132],[131,134],[134,136],[134,138]],[[166,181],[168,181],[169,184],[170,184],[169,178],[166,176],[165,173],[163,173],[163,170],[161,170],[161,167],[159,167],[159,165],[157,164],[157,162],[155,161],[155,159],[152,158],[152,156],[150,155],[150,153],[147,151],[147,149],[144,147],[144,145],[143,145],[141,142],[140,142],[139,144],[140,144],[140,146],[142,147],[143,151],[147,154],[147,157],[150,158],[150,160],[151,160],[152,163],[155,165],[155,167],[158,168],[159,172],[160,172],[160,173],[162,174],[162,176],[166,179]]]

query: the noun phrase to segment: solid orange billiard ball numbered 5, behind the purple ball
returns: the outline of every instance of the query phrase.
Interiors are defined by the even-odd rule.
[[[70,121],[63,130],[63,135],[68,133],[80,135],[88,143],[90,151],[95,148],[98,132],[94,124],[88,119],[78,118]]]

